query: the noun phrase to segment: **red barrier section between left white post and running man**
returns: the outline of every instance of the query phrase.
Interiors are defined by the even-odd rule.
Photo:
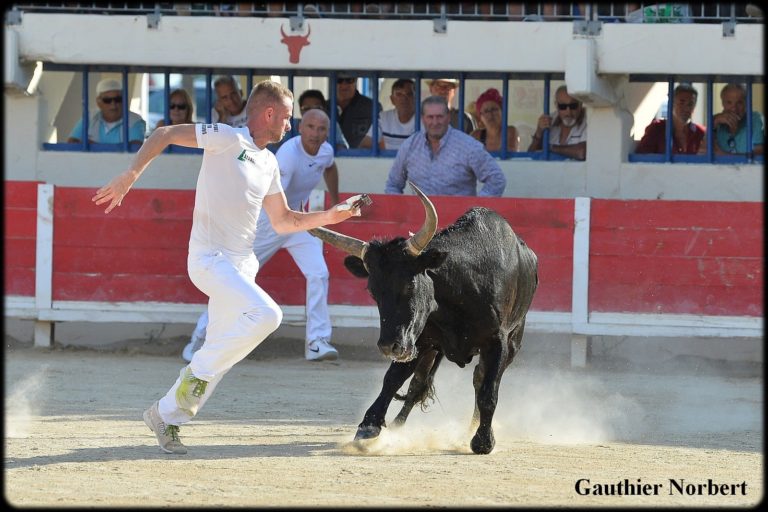
[[[187,276],[194,192],[131,190],[108,215],[95,192],[55,188],[53,300],[205,302]]]

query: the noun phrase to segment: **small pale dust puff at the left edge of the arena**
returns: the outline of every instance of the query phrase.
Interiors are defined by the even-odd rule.
[[[32,416],[41,409],[47,372],[48,365],[43,365],[34,374],[6,388],[5,437],[29,437]]]

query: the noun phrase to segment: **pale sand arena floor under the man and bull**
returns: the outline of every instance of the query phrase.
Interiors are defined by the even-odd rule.
[[[258,349],[257,349],[258,351]],[[177,356],[6,348],[4,496],[18,507],[753,506],[763,495],[761,377],[545,368],[502,380],[496,448],[471,453],[471,367],[444,364],[428,412],[351,443],[385,361],[250,358],[159,451],[142,411]],[[390,408],[388,419],[397,413]],[[580,495],[660,484],[658,495]],[[670,494],[744,483],[745,493]]]

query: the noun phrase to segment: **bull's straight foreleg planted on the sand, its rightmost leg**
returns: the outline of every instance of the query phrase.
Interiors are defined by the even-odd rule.
[[[475,386],[475,414],[473,424],[477,431],[470,446],[479,454],[491,453],[496,440],[491,421],[499,398],[499,383],[507,365],[507,344],[497,341],[480,351],[480,362],[475,368],[472,383]]]

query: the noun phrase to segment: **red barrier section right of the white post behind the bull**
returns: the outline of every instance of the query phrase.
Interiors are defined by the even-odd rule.
[[[763,204],[593,200],[589,309],[763,316]]]

